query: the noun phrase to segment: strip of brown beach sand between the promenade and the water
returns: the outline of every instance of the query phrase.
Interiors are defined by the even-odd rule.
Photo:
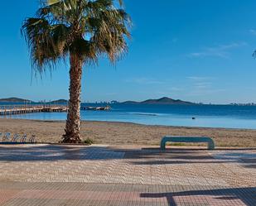
[[[35,134],[37,142],[56,143],[64,133],[65,122],[0,119],[0,132]],[[202,127],[147,126],[123,122],[82,122],[81,138],[97,144],[159,145],[162,137],[212,137],[217,146],[256,147],[256,130]],[[2,141],[2,140],[1,140]]]

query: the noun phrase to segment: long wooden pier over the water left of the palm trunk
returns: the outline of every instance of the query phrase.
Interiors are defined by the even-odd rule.
[[[64,105],[0,105],[0,116],[25,113],[64,113],[68,107]]]

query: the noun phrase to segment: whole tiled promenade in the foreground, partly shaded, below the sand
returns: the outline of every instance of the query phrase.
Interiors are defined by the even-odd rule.
[[[256,151],[0,145],[0,205],[253,206]]]

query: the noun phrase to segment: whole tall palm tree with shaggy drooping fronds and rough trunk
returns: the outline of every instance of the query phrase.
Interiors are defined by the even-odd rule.
[[[80,139],[82,68],[107,55],[114,63],[127,51],[130,18],[118,0],[44,0],[22,24],[32,68],[40,74],[70,61],[70,101],[62,142]]]

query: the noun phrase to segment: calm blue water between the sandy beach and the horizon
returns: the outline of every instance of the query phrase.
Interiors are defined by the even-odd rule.
[[[254,106],[112,104],[111,108],[109,112],[81,111],[81,118],[89,121],[134,122],[148,125],[256,129]],[[192,120],[192,117],[196,117],[196,120]],[[65,120],[66,113],[28,113],[12,118]]]

